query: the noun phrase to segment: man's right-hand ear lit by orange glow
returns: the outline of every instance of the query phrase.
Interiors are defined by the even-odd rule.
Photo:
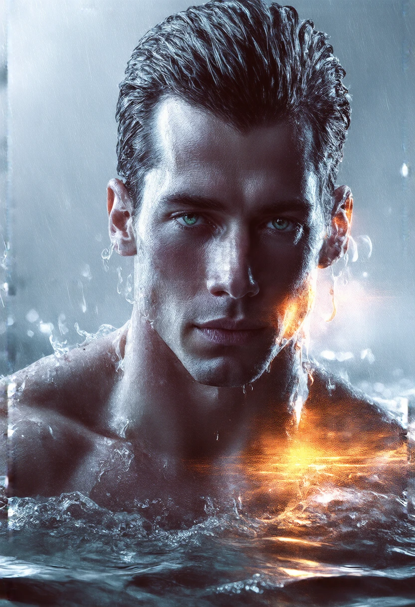
[[[348,186],[339,186],[333,192],[331,225],[320,250],[319,268],[327,268],[343,257],[349,246],[353,197]]]

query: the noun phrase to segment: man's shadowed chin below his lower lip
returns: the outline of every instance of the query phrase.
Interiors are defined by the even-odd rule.
[[[241,388],[252,384],[268,367],[271,361],[262,364],[241,364],[240,361],[214,359],[210,361],[192,361],[184,365],[192,378],[199,384],[218,388]]]

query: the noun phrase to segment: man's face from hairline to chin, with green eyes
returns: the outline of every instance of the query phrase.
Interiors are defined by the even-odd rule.
[[[257,379],[299,328],[325,234],[319,182],[288,122],[241,134],[159,104],[160,161],[136,215],[141,312],[203,384]]]

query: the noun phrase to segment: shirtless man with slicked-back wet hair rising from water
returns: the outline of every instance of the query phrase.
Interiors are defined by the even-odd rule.
[[[107,191],[112,246],[135,256],[132,318],[12,378],[10,495],[277,512],[311,462],[336,476],[322,460],[404,457],[399,426],[303,352],[317,268],[348,247],[344,75],[311,22],[261,0],[141,39]]]

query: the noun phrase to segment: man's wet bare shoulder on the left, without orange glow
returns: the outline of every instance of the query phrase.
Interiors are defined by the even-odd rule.
[[[88,427],[99,426],[97,413],[118,379],[125,335],[124,325],[59,358],[52,354],[17,371],[7,379],[10,401],[17,408],[49,409]]]

